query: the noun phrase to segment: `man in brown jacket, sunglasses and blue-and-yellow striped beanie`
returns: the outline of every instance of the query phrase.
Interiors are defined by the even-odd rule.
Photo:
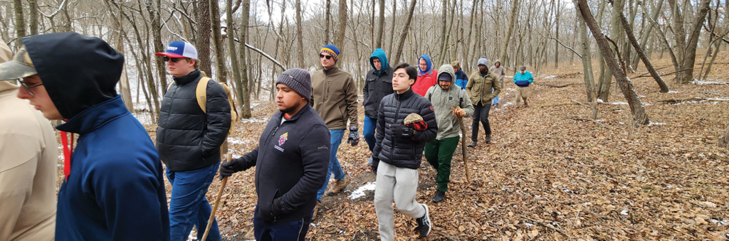
[[[332,134],[330,149],[329,170],[327,171],[327,181],[321,186],[316,194],[317,202],[314,208],[313,218],[319,211],[319,203],[324,191],[327,190],[329,178],[334,174],[336,180],[328,195],[338,194],[347,186],[347,179],[337,159],[337,150],[342,143],[344,130],[347,128],[347,120],[349,120],[349,137],[347,143],[352,146],[359,144],[359,133],[357,132],[357,90],[356,83],[352,79],[352,75],[346,71],[337,68],[337,60],[339,60],[339,49],[327,44],[319,51],[319,59],[321,60],[321,70],[311,74],[311,106],[316,113],[319,113],[324,123],[327,123],[329,131]]]

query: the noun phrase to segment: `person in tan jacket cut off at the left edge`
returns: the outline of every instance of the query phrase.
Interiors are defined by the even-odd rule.
[[[10,58],[0,39],[0,63]],[[0,81],[0,240],[53,240],[58,143],[18,87]]]

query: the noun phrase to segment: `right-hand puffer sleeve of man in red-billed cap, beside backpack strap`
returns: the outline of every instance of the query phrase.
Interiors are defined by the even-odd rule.
[[[223,87],[214,80],[208,82],[205,104],[206,130],[203,132],[203,157],[210,157],[225,141],[230,130],[230,103]]]

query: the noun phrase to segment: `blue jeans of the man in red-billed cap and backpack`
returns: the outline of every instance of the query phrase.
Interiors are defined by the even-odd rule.
[[[220,162],[198,170],[176,172],[166,169],[167,179],[172,184],[170,194],[170,240],[186,241],[192,226],[198,227],[198,240],[203,240],[205,228],[212,209],[205,198],[213,182]],[[220,240],[217,221],[210,227],[207,241]]]

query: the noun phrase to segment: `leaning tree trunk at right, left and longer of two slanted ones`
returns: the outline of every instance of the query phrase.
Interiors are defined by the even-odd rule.
[[[577,2],[580,7],[582,17],[585,19],[585,23],[590,28],[590,31],[592,31],[593,36],[595,36],[595,40],[600,47],[600,51],[605,56],[607,66],[609,66],[609,68],[614,72],[615,80],[617,84],[620,85],[620,90],[623,91],[625,100],[628,100],[628,106],[631,108],[635,124],[648,125],[650,123],[650,119],[648,119],[648,115],[645,112],[645,108],[643,107],[640,97],[635,92],[633,82],[625,76],[625,72],[623,72],[623,69],[620,68],[620,65],[617,63],[617,59],[615,58],[615,55],[613,55],[612,50],[610,50],[607,39],[605,39],[604,34],[600,31],[599,26],[595,22],[595,18],[592,16],[592,13],[590,13],[587,0],[577,0]]]

